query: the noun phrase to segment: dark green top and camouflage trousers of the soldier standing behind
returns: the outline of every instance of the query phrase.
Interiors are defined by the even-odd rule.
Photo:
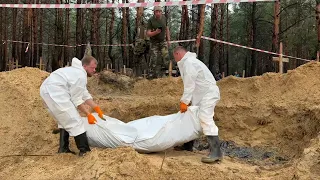
[[[165,41],[167,26],[164,16],[161,16],[161,19],[156,19],[154,16],[149,19],[148,30],[155,31],[157,28],[162,29],[161,33],[150,37],[149,77],[151,78],[162,77],[169,66],[168,46]]]

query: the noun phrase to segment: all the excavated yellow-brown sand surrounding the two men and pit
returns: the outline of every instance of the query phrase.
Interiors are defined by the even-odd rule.
[[[58,155],[56,127],[39,96],[48,73],[22,68],[0,73],[0,179],[301,179],[319,178],[320,63],[287,74],[227,77],[218,82],[221,101],[215,119],[221,138],[243,146],[274,148],[290,160],[252,165],[225,157],[206,165],[206,152],[138,154],[131,148],[97,149],[84,158]],[[128,91],[89,78],[88,89],[105,114],[131,121],[179,110],[181,78],[139,80]],[[71,138],[71,149],[77,151]]]

